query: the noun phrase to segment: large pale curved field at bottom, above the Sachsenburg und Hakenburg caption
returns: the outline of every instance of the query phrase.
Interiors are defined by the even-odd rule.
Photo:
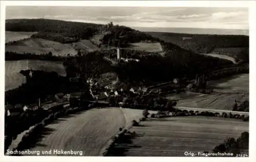
[[[130,124],[126,119],[133,114],[129,109],[91,109],[81,114],[59,118],[46,126],[42,138],[31,150],[63,149],[83,151],[83,156],[100,156],[106,143],[119,132],[120,127]],[[134,116],[141,114],[134,113]]]

